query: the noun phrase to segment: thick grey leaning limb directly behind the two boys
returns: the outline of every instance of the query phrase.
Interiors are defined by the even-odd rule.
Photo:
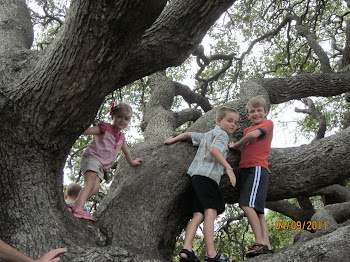
[[[159,83],[167,85],[166,81]],[[247,82],[242,85],[242,99],[227,105],[244,115],[245,98],[256,94],[268,97],[267,91],[257,81]],[[162,97],[161,94],[157,95]],[[153,110],[158,112],[159,106],[154,106]],[[148,108],[148,114],[151,115],[149,111],[152,111],[151,106]],[[157,115],[153,117],[158,119]],[[247,119],[243,118],[240,130],[247,124]],[[170,132],[167,129],[169,126],[171,123],[163,125],[165,131]],[[207,112],[188,130],[206,132],[214,126],[215,109]],[[152,126],[149,128],[152,129]],[[153,130],[157,132],[160,128],[156,126]],[[235,136],[240,138],[241,133],[238,132]],[[308,146],[273,149],[268,200],[308,195],[348,178],[349,174],[344,173],[340,166],[350,164],[347,157],[350,145],[343,143],[349,137],[350,129],[347,129]],[[118,166],[118,175],[109,194],[99,206],[97,218],[101,221],[104,232],[113,232],[108,234],[113,243],[123,243],[123,247],[135,253],[147,250],[147,253],[143,253],[145,256],[160,252],[160,257],[167,259],[171,255],[170,247],[175,243],[175,237],[186,222],[182,218],[181,204],[189,186],[186,171],[197,149],[187,142],[165,146],[162,139],[164,140],[160,134],[160,139],[150,139],[133,150],[133,155],[145,160],[142,166],[135,169],[125,162]],[[231,152],[228,159],[232,166],[238,166],[238,153]],[[237,168],[235,173],[239,179]],[[223,178],[221,187],[226,201],[236,203],[239,192],[231,187],[227,177]],[[137,209],[138,206],[142,208]],[[144,234],[140,236],[138,232]]]

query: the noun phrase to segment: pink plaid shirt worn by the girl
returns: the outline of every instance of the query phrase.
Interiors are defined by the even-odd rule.
[[[118,153],[125,142],[122,132],[116,132],[109,123],[98,123],[100,133],[94,135],[94,140],[87,146],[83,156],[95,158],[102,164],[104,170],[111,167],[117,159]]]

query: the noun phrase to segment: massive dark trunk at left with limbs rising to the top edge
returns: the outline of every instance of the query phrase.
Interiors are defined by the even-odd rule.
[[[234,0],[166,2],[73,1],[64,28],[40,54],[28,50],[33,33],[25,1],[0,3],[2,240],[32,257],[68,247],[63,261],[70,262],[131,260],[135,255],[115,246],[116,240],[104,236],[114,233],[102,233],[99,223],[71,216],[63,201],[63,166],[109,92],[180,64]],[[196,18],[192,26],[179,13]],[[167,33],[166,21],[173,24]],[[154,63],[161,58],[159,50],[173,52],[166,44],[173,34],[180,42],[191,39],[176,56]],[[139,247],[139,254],[149,254],[144,249]]]

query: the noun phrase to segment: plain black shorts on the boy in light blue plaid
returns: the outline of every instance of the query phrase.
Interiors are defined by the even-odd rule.
[[[194,175],[191,177],[192,184],[192,214],[204,209],[216,209],[217,214],[225,210],[225,200],[222,197],[219,185],[211,178]]]

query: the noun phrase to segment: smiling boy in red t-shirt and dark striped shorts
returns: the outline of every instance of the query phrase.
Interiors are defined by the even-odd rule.
[[[271,151],[273,122],[267,120],[266,100],[257,96],[251,98],[246,105],[247,117],[254,126],[243,132],[243,138],[229,147],[241,150],[242,187],[239,206],[243,209],[252,227],[255,244],[248,249],[246,256],[272,253],[268,227],[264,216],[265,201],[269,183],[269,167],[267,159]]]

